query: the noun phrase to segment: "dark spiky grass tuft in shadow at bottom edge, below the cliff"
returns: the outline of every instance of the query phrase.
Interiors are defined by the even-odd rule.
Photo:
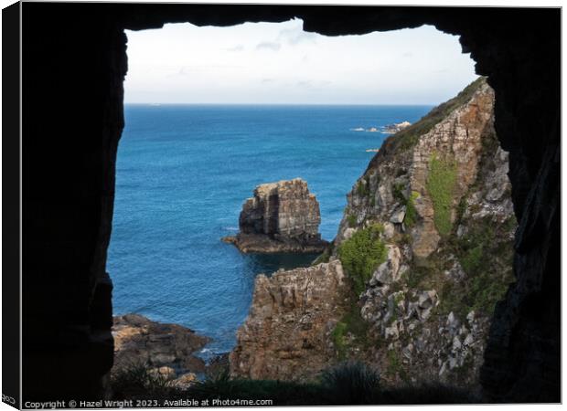
[[[337,405],[371,404],[380,390],[380,375],[362,363],[338,364],[320,379]]]

